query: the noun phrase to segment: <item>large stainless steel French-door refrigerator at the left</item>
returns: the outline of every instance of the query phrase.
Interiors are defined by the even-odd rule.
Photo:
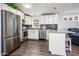
[[[1,11],[2,55],[7,55],[21,45],[19,34],[20,16],[9,11]]]

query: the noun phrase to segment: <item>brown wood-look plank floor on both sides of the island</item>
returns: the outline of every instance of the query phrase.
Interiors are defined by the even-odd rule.
[[[56,56],[48,51],[48,41],[28,40],[9,56]],[[67,56],[79,56],[79,46],[72,45],[72,52],[67,51]]]

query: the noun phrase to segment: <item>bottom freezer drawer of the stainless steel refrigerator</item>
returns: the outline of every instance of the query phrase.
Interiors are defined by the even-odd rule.
[[[20,38],[18,36],[11,37],[7,39],[3,39],[3,55],[6,55],[13,50],[15,50],[17,47],[21,45]]]

